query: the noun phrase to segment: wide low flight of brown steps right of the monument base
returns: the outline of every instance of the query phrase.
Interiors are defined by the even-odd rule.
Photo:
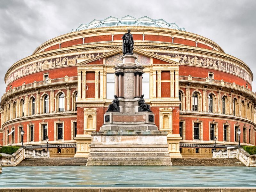
[[[173,166],[245,166],[236,158],[172,158]]]

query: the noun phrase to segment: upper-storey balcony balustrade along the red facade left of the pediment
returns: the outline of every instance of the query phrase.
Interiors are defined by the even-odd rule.
[[[22,86],[13,87],[13,89],[4,93],[1,100],[4,100],[5,97],[9,96],[10,94],[17,93],[20,90],[25,91],[26,89],[31,89],[34,87],[40,87],[40,86],[45,86],[45,85],[54,85],[54,84],[59,84],[62,82],[68,82],[68,83],[77,82],[77,76],[72,76],[72,77],[65,76],[65,77],[55,78],[55,79],[49,78],[48,80],[44,80],[44,81],[34,81],[33,83],[22,84]]]

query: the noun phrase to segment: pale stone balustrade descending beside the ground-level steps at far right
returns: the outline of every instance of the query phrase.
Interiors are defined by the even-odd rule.
[[[224,150],[215,150],[213,158],[237,158],[247,167],[256,167],[256,155],[250,155],[243,148],[230,148]]]

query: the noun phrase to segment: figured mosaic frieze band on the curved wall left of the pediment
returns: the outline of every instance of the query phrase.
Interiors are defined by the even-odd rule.
[[[69,65],[76,65],[77,59],[91,59],[94,57],[97,57],[103,53],[89,53],[89,54],[79,54],[79,55],[72,55],[72,56],[66,56],[66,57],[58,57],[53,58],[49,60],[42,60],[34,63],[27,64],[19,69],[16,69],[14,72],[12,72],[6,79],[6,84],[9,84],[13,80],[28,75],[30,73],[45,70],[45,69],[51,69],[56,67],[62,67],[62,66],[69,66]]]

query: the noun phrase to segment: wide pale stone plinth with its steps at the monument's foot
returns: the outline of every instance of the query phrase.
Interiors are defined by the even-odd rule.
[[[90,147],[86,165],[172,165],[163,131],[93,132]]]

